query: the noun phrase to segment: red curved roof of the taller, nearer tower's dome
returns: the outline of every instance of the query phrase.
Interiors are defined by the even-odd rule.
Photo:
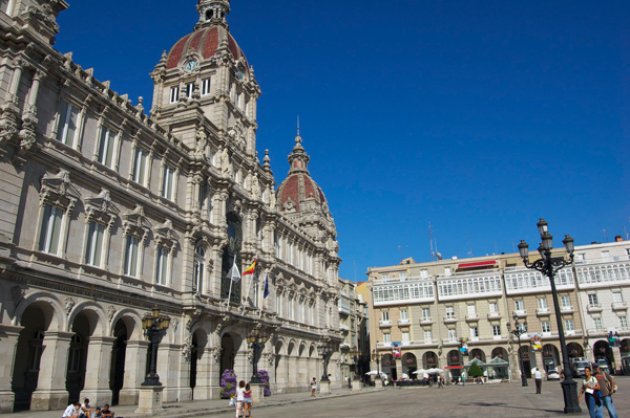
[[[216,54],[217,49],[219,49],[221,38],[225,39],[221,32],[224,32],[224,36],[227,36],[228,50],[232,57],[235,60],[242,58],[247,62],[243,50],[238,46],[230,32],[222,26],[214,25],[201,27],[177,41],[168,54],[166,68],[177,67],[190,55],[196,55],[203,60],[212,58]]]

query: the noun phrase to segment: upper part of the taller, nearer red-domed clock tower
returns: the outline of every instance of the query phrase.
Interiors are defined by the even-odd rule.
[[[198,0],[194,31],[162,54],[151,77],[151,115],[191,148],[204,123],[234,148],[256,154],[254,70],[229,31],[229,0]],[[202,123],[203,121],[203,123]]]

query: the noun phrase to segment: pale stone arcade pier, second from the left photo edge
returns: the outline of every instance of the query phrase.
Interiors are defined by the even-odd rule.
[[[73,335],[60,331],[47,331],[44,334],[39,380],[31,400],[32,411],[63,411],[68,406],[66,369]]]

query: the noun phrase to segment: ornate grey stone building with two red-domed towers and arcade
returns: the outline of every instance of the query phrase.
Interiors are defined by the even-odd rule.
[[[259,163],[261,89],[229,0],[198,1],[152,72],[150,116],[52,47],[67,7],[0,1],[0,412],[136,403],[154,307],[172,318],[165,402],[218,397],[225,369],[249,380],[254,329],[272,392],[331,357],[338,384],[335,224],[299,134],[277,192]]]

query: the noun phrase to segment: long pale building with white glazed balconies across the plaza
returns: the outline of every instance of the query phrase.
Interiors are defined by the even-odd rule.
[[[507,361],[507,370],[497,368],[496,377],[518,378],[519,359],[528,376],[533,367],[562,367],[549,280],[526,269],[518,254],[427,263],[407,259],[370,268],[368,276],[370,342],[378,352],[372,364],[376,368],[378,358],[391,377],[434,367],[457,377],[460,366],[473,358]],[[555,282],[569,356],[603,359],[611,370],[622,371],[622,359],[630,358],[630,243],[576,247],[575,263],[560,270]],[[527,324],[522,357],[510,332],[514,316]],[[609,341],[611,331],[617,338]],[[535,350],[537,341],[541,347]],[[462,345],[468,357],[461,355]]]

